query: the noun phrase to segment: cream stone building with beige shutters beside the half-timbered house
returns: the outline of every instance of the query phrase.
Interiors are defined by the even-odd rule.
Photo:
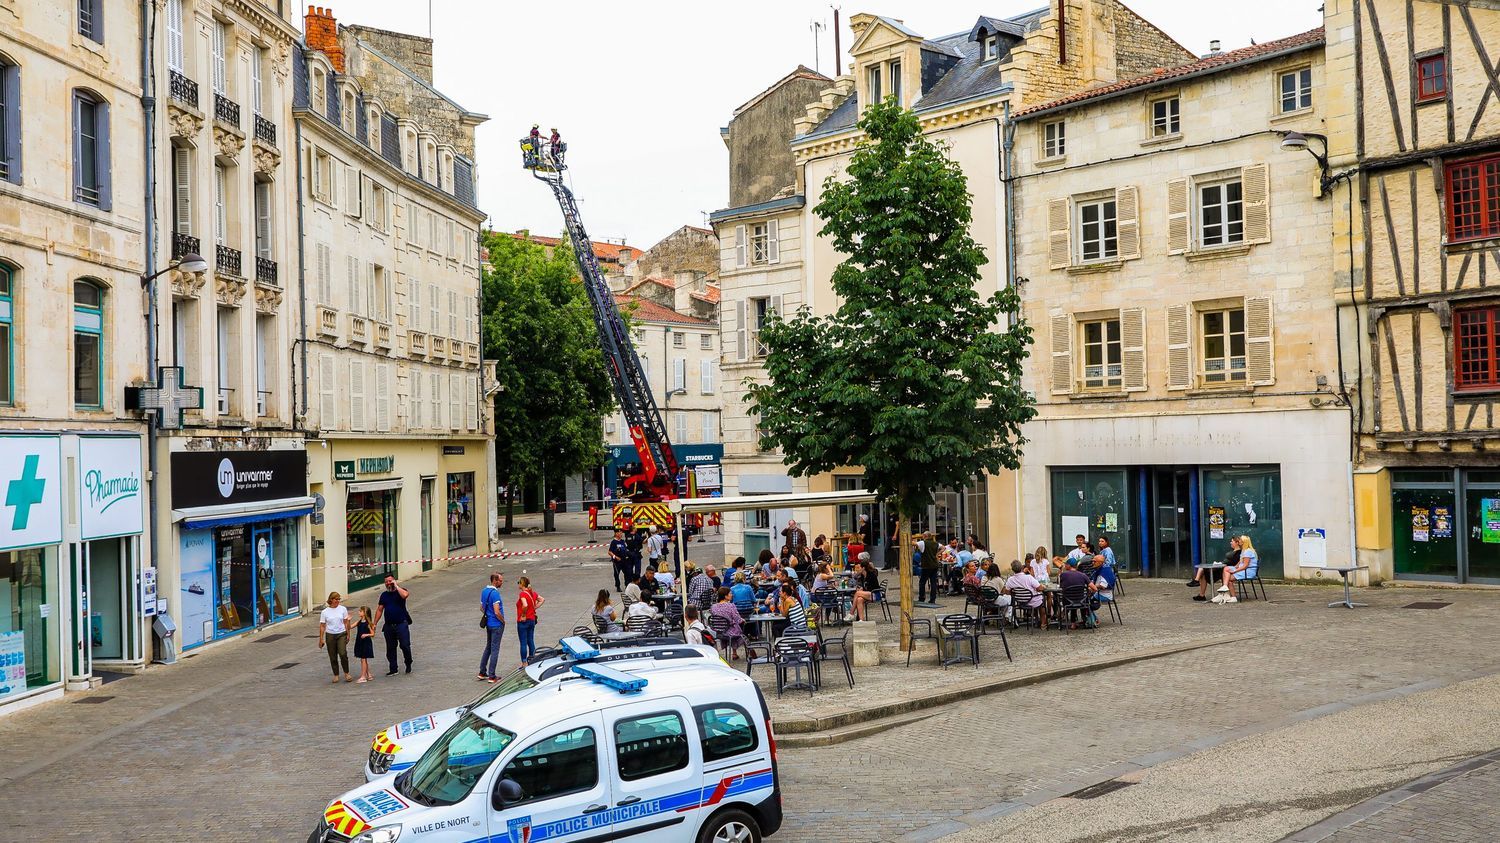
[[[1000,555],[1108,536],[1120,570],[1191,578],[1250,536],[1299,578],[1320,530],[1348,558],[1335,208],[1278,134],[1323,124],[1324,80],[1318,28],[1016,114],[1038,417]]]

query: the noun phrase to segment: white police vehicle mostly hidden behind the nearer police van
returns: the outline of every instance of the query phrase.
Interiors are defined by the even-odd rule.
[[[711,646],[687,645],[676,639],[627,639],[610,642],[603,646],[594,662],[608,663],[610,668],[624,668],[628,662],[632,672],[651,670],[658,664],[678,664],[684,660],[714,660],[718,652]],[[456,708],[446,708],[393,723],[375,734],[370,741],[370,753],[364,760],[364,780],[374,782],[387,772],[400,772],[417,764],[422,753],[428,752],[448,726],[458,723],[470,710],[495,702],[504,696],[520,693],[537,687],[542,682],[556,681],[572,676],[568,656],[560,650],[548,650],[531,658],[528,664],[516,668],[500,682],[484,688],[472,702]]]

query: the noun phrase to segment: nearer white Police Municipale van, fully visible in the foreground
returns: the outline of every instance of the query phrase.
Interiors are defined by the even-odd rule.
[[[466,706],[410,768],[328,804],[309,843],[758,843],[780,828],[776,738],[748,676],[562,644],[538,664],[550,675]]]

